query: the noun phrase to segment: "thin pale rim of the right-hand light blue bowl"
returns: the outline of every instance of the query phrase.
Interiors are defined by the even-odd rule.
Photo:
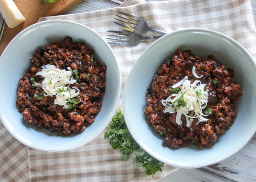
[[[125,117],[125,115],[127,113],[127,104],[125,104],[125,97],[126,97],[126,93],[128,92],[127,90],[127,84],[129,82],[129,79],[131,77],[131,74],[133,73],[134,69],[135,69],[135,65],[137,65],[138,62],[140,62],[141,60],[141,57],[143,56],[143,54],[147,54],[149,51],[151,51],[152,49],[154,49],[155,45],[157,45],[158,42],[162,41],[163,39],[165,39],[166,36],[170,36],[172,34],[179,34],[179,33],[183,33],[183,32],[193,32],[193,33],[210,33],[210,34],[215,34],[216,36],[219,36],[221,38],[224,38],[225,40],[228,40],[229,42],[231,42],[233,45],[236,45],[237,47],[239,47],[239,49],[241,49],[242,51],[244,51],[244,53],[246,53],[245,55],[249,58],[249,60],[253,60],[253,61],[250,61],[252,62],[252,64],[254,65],[254,71],[256,70],[256,62],[254,61],[253,57],[250,55],[250,53],[240,44],[238,43],[236,40],[234,40],[233,38],[223,34],[223,33],[220,33],[218,31],[213,31],[213,30],[209,30],[209,29],[206,29],[206,28],[184,28],[184,29],[180,29],[180,30],[176,30],[176,31],[173,31],[173,32],[170,32],[166,35],[164,35],[163,37],[160,37],[158,40],[156,40],[154,43],[152,43],[150,46],[148,46],[144,51],[143,53],[140,55],[140,57],[136,60],[136,62],[134,63],[133,67],[131,68],[131,71],[129,72],[128,74],[128,77],[127,77],[127,80],[125,82],[125,86],[124,86],[124,91],[123,91],[123,96],[122,96],[122,110],[123,110],[123,115],[124,115],[124,118],[125,118],[125,123],[127,125],[127,128],[128,130],[130,131],[132,137],[135,139],[135,141],[140,145],[141,148],[143,148],[143,150],[145,150],[148,154],[150,154],[151,156],[153,156],[155,159],[167,164],[167,165],[172,165],[172,166],[175,166],[175,167],[178,167],[178,168],[186,168],[186,169],[192,169],[192,168],[201,168],[201,167],[205,167],[205,166],[208,166],[208,165],[212,165],[212,164],[215,164],[215,163],[218,163],[218,162],[221,162],[223,161],[224,159],[227,159],[228,157],[232,156],[233,154],[236,154],[238,151],[240,151],[245,145],[247,145],[247,143],[250,141],[250,139],[253,137],[253,135],[256,133],[256,128],[254,128],[254,131],[250,134],[249,137],[247,137],[247,140],[244,142],[243,145],[241,145],[237,150],[235,151],[232,151],[231,154],[228,154],[227,156],[224,156],[218,160],[216,160],[215,162],[209,162],[209,163],[206,163],[204,165],[193,165],[193,166],[183,166],[183,165],[178,165],[176,163],[172,163],[172,162],[167,162],[165,161],[164,159],[165,158],[162,158],[160,159],[157,155],[154,155],[154,152],[152,152],[149,148],[144,148],[143,147],[143,144],[142,142],[140,142],[139,139],[136,139],[134,136],[134,133],[133,131],[131,130],[128,122],[127,122],[127,117]],[[150,127],[150,126],[148,126]]]

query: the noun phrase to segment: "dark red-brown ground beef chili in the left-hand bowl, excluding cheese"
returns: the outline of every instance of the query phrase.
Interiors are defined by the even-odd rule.
[[[82,42],[73,43],[71,37],[65,37],[63,42],[53,42],[44,48],[35,51],[33,59],[29,60],[31,68],[19,80],[17,87],[18,111],[22,113],[27,123],[35,124],[38,128],[57,130],[59,135],[70,135],[73,132],[81,133],[85,126],[94,122],[94,117],[101,111],[100,97],[105,93],[104,79],[107,66],[100,65],[92,59],[94,51]],[[77,104],[72,109],[64,109],[55,105],[54,97],[34,98],[40,95],[42,88],[33,86],[31,78],[41,83],[44,78],[35,76],[42,69],[42,65],[55,65],[56,68],[71,67],[78,71],[78,80],[70,88],[79,88]],[[90,74],[87,78],[86,75]],[[73,77],[76,78],[75,73]]]

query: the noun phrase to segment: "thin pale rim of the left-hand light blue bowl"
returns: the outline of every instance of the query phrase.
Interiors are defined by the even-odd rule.
[[[38,22],[38,23],[35,23],[31,26],[28,26],[27,28],[25,28],[24,30],[20,31],[20,33],[18,33],[10,42],[9,44],[6,46],[6,48],[4,49],[3,53],[1,54],[0,56],[0,63],[1,63],[1,60],[3,58],[2,55],[6,54],[6,51],[8,51],[9,47],[11,47],[11,45],[15,42],[15,40],[17,38],[19,38],[20,36],[22,36],[24,33],[28,32],[29,30],[31,30],[32,28],[35,28],[37,26],[41,26],[43,24],[51,24],[51,23],[68,23],[68,24],[73,24],[75,26],[80,26],[81,28],[84,28],[86,29],[87,31],[91,31],[93,34],[95,34],[97,37],[99,37],[103,43],[105,43],[105,45],[108,47],[109,51],[111,52],[111,54],[113,55],[113,58],[114,58],[114,62],[116,63],[116,68],[117,68],[117,72],[118,72],[118,91],[117,91],[117,95],[116,95],[116,101],[114,102],[113,106],[116,110],[117,108],[117,105],[118,105],[118,102],[119,102],[119,98],[120,98],[120,94],[121,94],[121,88],[122,88],[122,74],[121,74],[121,71],[120,71],[120,67],[119,67],[119,64],[118,64],[118,61],[116,59],[116,55],[114,54],[113,52],[113,49],[111,48],[111,46],[107,43],[106,40],[103,39],[103,37],[97,33],[96,31],[94,31],[93,29],[81,24],[81,23],[77,23],[77,22],[73,22],[73,21],[69,21],[69,20],[45,20],[45,21],[41,21],[41,22]],[[96,133],[93,135],[93,137],[91,137],[88,141],[86,142],[81,142],[80,144],[78,145],[75,145],[75,146],[72,146],[72,147],[67,147],[67,148],[61,148],[61,149],[58,149],[58,150],[51,150],[49,148],[40,148],[40,147],[35,147],[34,145],[30,144],[30,143],[27,143],[27,142],[24,142],[23,140],[21,140],[20,138],[16,137],[15,134],[10,130],[10,128],[8,127],[8,125],[6,124],[5,122],[5,119],[3,118],[2,116],[3,113],[1,113],[0,111],[0,121],[2,121],[4,127],[6,128],[6,130],[9,132],[9,134],[12,135],[12,137],[14,137],[15,139],[17,139],[19,142],[21,142],[22,144],[30,147],[30,148],[33,148],[33,149],[36,149],[36,150],[40,150],[40,151],[49,151],[49,152],[59,152],[59,151],[68,151],[68,150],[71,150],[71,149],[75,149],[75,148],[79,148],[80,146],[82,145],[85,145],[87,144],[88,142],[90,142],[91,140],[95,139],[99,134],[102,133],[102,131],[107,127],[108,123],[111,121],[113,115],[115,114],[115,111],[113,110],[110,114],[110,119],[108,119],[108,121],[105,123],[105,125],[103,125],[103,127]]]

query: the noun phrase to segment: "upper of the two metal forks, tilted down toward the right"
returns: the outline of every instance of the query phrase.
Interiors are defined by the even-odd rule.
[[[157,34],[163,34],[163,35],[167,34],[167,32],[165,32],[165,31],[161,31],[161,30],[157,30],[155,28],[151,28],[148,25],[147,20],[145,20],[143,18],[135,17],[131,14],[127,14],[127,13],[124,13],[122,11],[117,11],[117,12],[127,16],[127,18],[126,17],[121,17],[121,16],[116,14],[117,17],[122,18],[125,21],[115,18],[116,20],[122,22],[123,24],[117,23],[117,22],[114,22],[114,23],[116,23],[119,26],[122,26],[122,28],[125,28],[128,31],[134,32],[136,34],[143,34],[146,31],[153,31],[153,32],[156,32]]]

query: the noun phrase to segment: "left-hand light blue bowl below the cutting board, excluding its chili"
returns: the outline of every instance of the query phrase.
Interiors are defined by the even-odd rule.
[[[95,58],[107,65],[105,95],[102,98],[102,111],[95,122],[81,134],[56,137],[46,129],[38,129],[27,124],[18,112],[16,89],[19,79],[30,67],[29,59],[36,49],[52,41],[62,41],[70,36],[73,41],[84,42],[95,51]],[[116,57],[108,43],[95,31],[65,20],[49,20],[36,23],[21,31],[6,47],[0,57],[0,119],[3,125],[18,141],[42,151],[65,151],[90,142],[108,125],[115,113],[121,91],[121,73]]]

